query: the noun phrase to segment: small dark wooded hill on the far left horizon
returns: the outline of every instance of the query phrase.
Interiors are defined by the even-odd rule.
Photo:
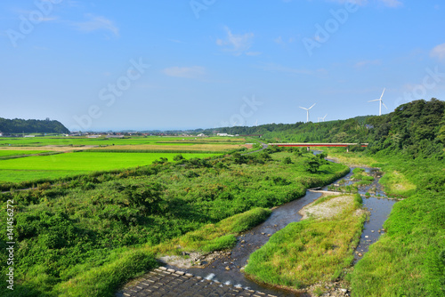
[[[0,117],[0,132],[4,133],[69,133],[69,130],[59,121],[24,120],[20,118],[6,119]]]

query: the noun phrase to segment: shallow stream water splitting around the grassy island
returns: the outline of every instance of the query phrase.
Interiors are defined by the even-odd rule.
[[[353,168],[351,168],[353,169]],[[355,253],[354,264],[359,261],[362,255],[368,252],[368,246],[375,243],[381,234],[384,234],[382,228],[384,221],[391,212],[392,205],[395,200],[388,199],[378,180],[381,173],[375,168],[363,168],[366,173],[370,173],[375,177],[375,181],[372,184],[361,187],[359,189],[360,195],[363,197],[363,206],[370,212],[369,220],[365,223],[363,233],[360,238],[360,244],[357,247]],[[352,171],[346,175],[343,179],[342,186],[351,185],[353,181],[350,181]],[[342,187],[339,181],[330,185],[329,189]],[[332,189],[332,190],[336,190]],[[323,187],[322,190],[328,190],[328,186]],[[371,197],[365,197],[365,193],[372,193]],[[283,229],[287,224],[300,221],[301,215],[298,211],[303,208],[304,205],[312,203],[318,199],[321,193],[306,191],[306,195],[300,199],[289,202],[286,205],[280,205],[275,208],[268,220],[262,224],[256,226],[254,229],[241,234],[238,239],[238,244],[233,248],[231,253],[224,253],[218,259],[215,259],[211,263],[203,263],[205,268],[192,268],[186,269],[186,272],[190,272],[195,276],[205,277],[213,281],[219,281],[226,285],[236,285],[243,288],[248,288],[255,291],[261,291],[263,293],[270,293],[276,296],[309,296],[307,294],[292,293],[278,288],[274,288],[268,285],[260,285],[254,281],[246,278],[244,274],[240,272],[240,268],[247,264],[247,260],[251,253],[256,249],[263,246],[271,237],[272,234],[279,229]]]

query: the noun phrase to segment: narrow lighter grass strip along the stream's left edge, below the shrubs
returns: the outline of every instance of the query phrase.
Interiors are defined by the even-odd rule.
[[[158,267],[156,257],[165,253],[202,251],[205,253],[229,249],[236,244],[239,232],[255,227],[266,220],[271,210],[254,208],[239,213],[216,224],[202,228],[165,243],[143,245],[116,253],[112,261],[94,267],[77,277],[55,286],[53,292],[59,296],[113,296],[117,288],[133,277],[139,277],[147,270]],[[181,248],[178,248],[178,245]]]

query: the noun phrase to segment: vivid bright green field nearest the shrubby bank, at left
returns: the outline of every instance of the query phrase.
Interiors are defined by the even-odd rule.
[[[160,157],[173,161],[177,153],[94,153],[77,152],[33,156],[0,161],[0,181],[33,181],[150,165]],[[185,159],[216,154],[182,154]]]

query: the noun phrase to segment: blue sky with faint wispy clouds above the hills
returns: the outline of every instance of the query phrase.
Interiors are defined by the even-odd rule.
[[[70,130],[317,122],[445,100],[440,0],[4,0],[0,116]]]

